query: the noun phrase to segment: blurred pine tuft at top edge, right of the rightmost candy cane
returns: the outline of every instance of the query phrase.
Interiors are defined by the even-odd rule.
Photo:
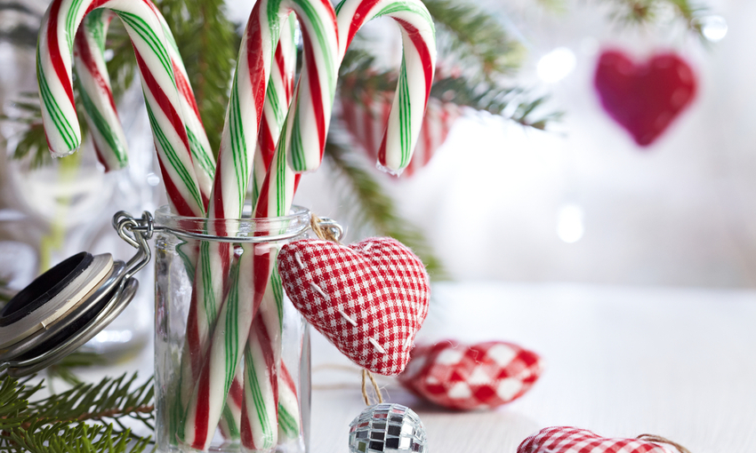
[[[473,65],[486,78],[511,74],[519,68],[524,49],[493,15],[476,4],[459,0],[424,3],[440,32],[439,54],[453,55],[461,68]]]

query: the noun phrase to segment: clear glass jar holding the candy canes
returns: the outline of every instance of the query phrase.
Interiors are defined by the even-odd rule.
[[[277,266],[272,266],[269,288],[253,318],[253,322],[267,322],[269,341],[265,343],[270,346],[269,349],[255,343],[262,343],[261,336],[252,334],[247,337],[249,329],[243,331],[245,328],[242,326],[253,324],[245,320],[243,308],[239,308],[235,316],[227,315],[225,308],[234,306],[230,301],[235,300],[238,301],[237,306],[241,307],[245,303],[252,306],[254,297],[249,293],[254,291],[245,287],[243,277],[238,277],[245,274],[240,269],[248,266],[245,258],[254,257],[256,260],[262,253],[269,252],[269,256],[275,259],[277,251],[286,242],[300,239],[307,233],[310,211],[294,207],[289,216],[271,219],[196,219],[173,215],[164,206],[156,211],[155,220],[159,226],[156,229],[155,247],[157,451],[307,451],[310,427],[309,330],[302,315],[286,298],[277,276]],[[223,247],[227,247],[225,250],[229,251],[226,255],[229,257],[229,265],[213,267],[213,270],[219,272],[222,268],[226,269],[225,275],[215,275],[223,278],[223,301],[215,310],[204,309],[204,306],[209,306],[203,302],[208,300],[203,297],[207,291],[195,290],[195,270],[197,261],[200,260],[197,256],[204,256],[208,261],[218,257],[215,261],[222,262],[218,250]],[[246,253],[249,255],[245,257]],[[200,278],[207,278],[203,271],[200,273]],[[237,298],[233,296],[235,293]],[[280,330],[270,328],[269,315],[263,314],[266,309],[267,313],[276,313],[277,310],[277,318],[274,318],[276,321],[272,325]],[[205,310],[203,313],[207,318],[196,315],[198,310]],[[231,308],[228,311],[231,312]],[[201,338],[201,335],[198,337],[199,334],[195,333],[197,330],[191,330],[192,333],[188,335],[188,326],[201,325],[198,319],[213,317],[217,321],[206,322],[207,339],[204,343],[201,339],[197,340]],[[235,330],[229,327],[229,319],[235,326],[239,326],[237,334],[229,333]],[[255,331],[254,328],[252,330]],[[280,335],[279,343],[277,335]],[[197,346],[203,344],[210,346]],[[224,346],[218,346],[221,344]],[[228,346],[229,344],[240,346]],[[203,349],[204,352],[198,352]],[[262,350],[272,353],[263,353],[264,362],[268,362],[268,365],[262,365],[261,370],[263,361],[255,362],[254,358],[259,356],[254,354]],[[229,358],[223,360],[223,371],[218,371],[223,366],[206,365],[210,363],[211,356],[240,357],[242,355],[239,353],[242,352],[243,358],[237,362],[236,372],[229,371],[233,370],[233,367],[229,368],[229,362],[233,362],[233,359]],[[280,362],[276,359],[269,360],[279,355]],[[279,367],[274,366],[275,362],[280,363]],[[205,373],[210,375],[213,372],[220,374],[212,375],[214,379],[203,381]],[[275,385],[266,385],[274,379],[261,377],[266,372],[277,373],[277,396],[273,395],[275,390],[272,388]],[[229,376],[235,377],[233,382]],[[208,383],[206,387],[203,387],[203,382]],[[206,393],[202,392],[203,388]],[[206,399],[203,399],[203,394],[207,395]],[[226,395],[228,398],[224,398]],[[247,410],[247,401],[253,401],[254,406],[251,407],[256,408],[257,412]],[[245,410],[250,414],[265,412],[261,409],[266,406],[265,401],[277,401],[277,405],[267,405],[268,409],[272,407],[275,412],[272,417],[258,417],[261,420],[259,425],[250,423],[249,417],[242,418],[239,415]],[[214,409],[207,409],[208,406],[213,406]],[[213,410],[215,414],[220,414],[217,424],[213,423],[213,416],[207,416],[208,411]],[[277,420],[270,420],[276,417],[276,412]],[[188,419],[193,422],[187,423]],[[197,420],[205,420],[205,424]],[[197,434],[199,425],[203,425],[204,431]],[[252,430],[253,434],[250,434],[248,427],[245,429],[245,426],[251,425],[256,426]],[[262,441],[259,440],[260,436],[263,437]],[[251,445],[257,447],[252,448]]]

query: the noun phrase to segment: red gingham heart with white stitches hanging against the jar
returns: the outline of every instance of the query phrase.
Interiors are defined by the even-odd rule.
[[[294,306],[343,354],[378,374],[404,370],[430,298],[412,250],[390,238],[305,239],[281,249],[278,272]]]

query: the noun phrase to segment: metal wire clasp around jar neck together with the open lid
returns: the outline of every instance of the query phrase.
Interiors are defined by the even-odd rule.
[[[152,258],[148,241],[155,232],[241,243],[294,239],[311,227],[342,240],[344,228],[338,222],[310,216],[311,222],[285,234],[222,237],[156,225],[149,211],[142,212],[141,218],[118,211],[113,228],[136,253],[124,263],[108,253],[81,252],[20,290],[0,311],[0,376],[28,376],[59,362],[121,314],[139,288],[134,275]]]

